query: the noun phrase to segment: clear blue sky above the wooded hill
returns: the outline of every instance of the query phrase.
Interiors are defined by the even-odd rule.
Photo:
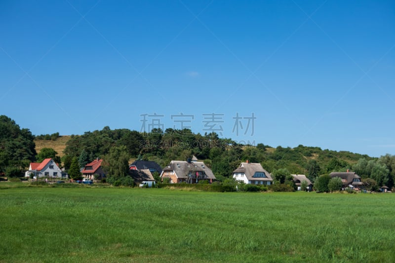
[[[0,114],[33,134],[156,113],[146,129],[395,154],[394,1],[0,1],[0,25]]]

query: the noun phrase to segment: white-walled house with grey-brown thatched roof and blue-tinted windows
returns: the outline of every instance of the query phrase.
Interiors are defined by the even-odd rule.
[[[250,185],[267,185],[273,184],[272,176],[268,171],[263,169],[260,163],[242,162],[240,166],[232,172],[232,177],[236,181],[244,182]]]

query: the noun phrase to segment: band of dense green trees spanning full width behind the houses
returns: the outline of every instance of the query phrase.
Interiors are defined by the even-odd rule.
[[[303,145],[296,148],[273,148],[263,143],[241,145],[232,139],[219,138],[214,132],[201,135],[189,129],[168,128],[141,133],[129,129],[111,130],[108,126],[102,130],[72,135],[62,159],[53,149],[42,149],[37,154],[35,139],[56,140],[58,137],[59,133],[55,133],[36,138],[29,129],[21,129],[14,120],[0,116],[0,171],[7,174],[19,170],[21,173],[28,168],[30,161],[49,157],[61,162],[66,170],[70,168],[73,158],[78,159],[82,167],[99,157],[111,170],[119,166],[117,162],[125,163],[127,159],[153,160],[163,167],[171,160],[187,160],[195,155],[212,169],[219,181],[228,178],[241,161],[249,160],[261,163],[278,182],[281,180],[277,178],[288,174],[306,174],[314,182],[320,175],[350,169],[373,188],[382,185],[392,188],[394,185],[395,156],[388,154],[373,158],[349,151],[322,150]],[[112,171],[117,173],[116,169]],[[122,174],[122,171],[119,173]]]

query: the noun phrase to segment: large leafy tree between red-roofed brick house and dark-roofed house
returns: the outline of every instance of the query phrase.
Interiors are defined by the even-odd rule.
[[[113,147],[110,153],[104,157],[105,170],[109,176],[116,178],[128,175],[129,153],[125,146]]]

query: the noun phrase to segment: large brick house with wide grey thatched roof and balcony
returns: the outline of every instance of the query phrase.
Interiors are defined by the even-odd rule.
[[[162,169],[160,178],[169,178],[170,183],[177,184],[186,182],[188,184],[197,184],[206,180],[212,183],[216,178],[203,162],[192,161],[176,161],[173,160],[168,166]]]

